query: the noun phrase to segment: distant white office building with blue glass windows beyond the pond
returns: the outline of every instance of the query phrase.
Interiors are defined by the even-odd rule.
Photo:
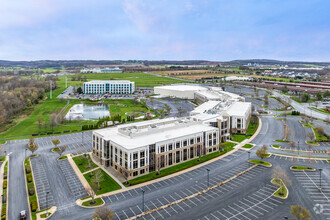
[[[135,90],[135,83],[128,80],[93,80],[85,82],[85,94],[131,94]]]

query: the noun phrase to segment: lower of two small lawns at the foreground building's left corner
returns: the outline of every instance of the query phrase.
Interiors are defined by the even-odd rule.
[[[121,186],[114,179],[112,179],[106,172],[104,172],[104,170],[102,170],[101,168],[97,170],[101,170],[101,172],[103,173],[103,181],[100,182],[101,189],[96,193],[96,195],[121,189]],[[94,175],[95,172],[96,170],[84,174],[84,177],[88,183],[90,183],[93,179],[93,177],[91,177],[90,175]]]

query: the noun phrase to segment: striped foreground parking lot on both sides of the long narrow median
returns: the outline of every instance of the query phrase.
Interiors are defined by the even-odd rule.
[[[246,163],[242,163],[239,166],[232,168],[232,169],[225,171],[218,175],[214,175],[210,172],[210,186],[215,185],[216,183],[222,182],[226,179],[229,179],[229,178],[235,176],[237,173],[240,173],[243,170],[247,169],[250,166],[251,165],[246,162]],[[206,169],[206,167],[203,167],[203,168]],[[148,216],[145,216],[145,218],[152,218],[152,219],[167,218],[176,213],[181,213],[183,211],[196,207],[197,205],[201,205],[207,201],[219,199],[219,196],[221,196],[225,193],[228,193],[230,191],[235,191],[239,186],[244,184],[246,181],[255,178],[255,176],[257,176],[257,175],[262,174],[265,171],[265,169],[267,169],[267,168],[258,166],[256,168],[248,171],[247,173],[235,178],[234,180],[232,180],[220,187],[217,187],[213,190],[208,191],[207,193],[198,195],[189,200],[185,200],[179,204],[173,205],[164,210],[154,212]],[[184,181],[187,179],[191,179],[193,176],[196,176],[196,175],[201,175],[201,174],[200,173],[198,174],[196,172],[188,172],[188,173],[179,175],[177,177],[168,179],[166,181],[161,181],[161,182],[158,182],[155,184],[150,184],[150,185],[144,186],[139,189],[133,189],[133,190],[127,191],[125,193],[120,193],[120,194],[112,195],[109,197],[105,197],[104,199],[106,202],[109,202],[111,205],[111,203],[113,203],[115,201],[118,201],[121,199],[129,199],[132,196],[141,198],[142,197],[141,190],[143,189],[143,190],[145,190],[145,205],[144,205],[145,211],[151,210],[151,209],[163,206],[165,204],[177,201],[179,199],[185,198],[187,196],[193,195],[195,193],[198,193],[198,192],[206,189],[208,187],[207,178],[204,178],[200,181],[193,181],[189,186],[186,186],[184,188],[178,188],[178,190],[168,192],[165,195],[164,194],[158,195],[158,196],[153,195],[153,194],[157,194],[157,189],[166,187],[166,185],[168,185],[168,184],[173,184],[174,181],[179,181],[179,182]],[[204,171],[204,176],[205,176],[205,171]],[[124,219],[124,218],[132,217],[132,216],[135,216],[135,215],[141,213],[142,209],[143,209],[142,203],[141,203],[141,200],[139,200],[139,199],[137,201],[140,201],[140,202],[135,203],[134,205],[132,205],[129,208],[116,211],[116,219]]]

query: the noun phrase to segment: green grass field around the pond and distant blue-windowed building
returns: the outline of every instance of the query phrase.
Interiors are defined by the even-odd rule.
[[[121,79],[121,80],[131,80],[136,82],[136,86],[156,86],[162,84],[178,83],[182,82],[180,80],[170,79],[166,77],[153,76],[146,73],[101,73],[101,74],[83,74],[87,76],[87,80],[105,80],[105,79]],[[12,120],[11,124],[7,124],[3,127],[0,133],[0,143],[4,143],[6,140],[13,139],[24,139],[28,138],[32,134],[41,133],[46,136],[47,132],[63,132],[63,131],[80,131],[81,126],[79,121],[67,122],[64,125],[56,126],[51,128],[50,126],[45,127],[44,125],[38,127],[38,119],[42,119],[43,122],[48,122],[50,119],[50,114],[59,112],[65,107],[67,101],[57,99],[56,97],[61,94],[65,88],[65,76],[59,76],[59,81],[57,81],[57,89],[52,92],[52,99],[50,99],[50,93],[47,93],[47,98],[40,101],[39,104],[33,106],[32,108],[26,109],[21,115],[17,116]],[[82,85],[82,81],[71,81],[70,76],[68,76],[68,86],[79,86]],[[70,100],[66,111],[72,107],[74,104],[78,103],[92,103],[87,100]],[[147,109],[141,104],[135,105],[131,100],[105,100],[105,103],[110,104],[111,114],[120,114],[122,118],[126,118],[126,112],[146,112]],[[117,104],[123,104],[125,106],[119,106]],[[82,121],[82,124],[93,124],[92,121]]]

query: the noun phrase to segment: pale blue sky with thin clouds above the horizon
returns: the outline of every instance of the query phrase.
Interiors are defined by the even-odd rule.
[[[0,0],[0,60],[330,62],[328,0]]]

